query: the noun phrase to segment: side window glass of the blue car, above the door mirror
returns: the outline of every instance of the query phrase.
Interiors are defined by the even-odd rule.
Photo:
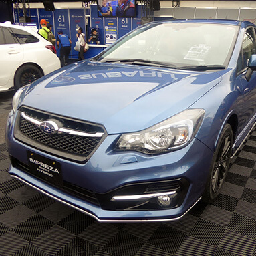
[[[255,54],[255,41],[253,35],[253,29],[247,29],[245,31],[245,35],[243,37],[243,68],[247,67],[247,61],[251,57],[251,55]]]

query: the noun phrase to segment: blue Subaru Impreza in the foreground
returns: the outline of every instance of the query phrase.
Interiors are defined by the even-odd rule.
[[[98,221],[169,221],[213,202],[255,126],[253,23],[147,23],[24,86],[11,176]]]

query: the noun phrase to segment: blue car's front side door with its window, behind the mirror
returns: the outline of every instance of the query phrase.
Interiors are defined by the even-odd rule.
[[[237,79],[241,84],[241,91],[243,94],[242,118],[239,124],[241,126],[241,130],[247,126],[256,112],[256,72],[253,72],[249,81],[245,78],[247,63],[253,54],[256,54],[255,29],[253,27],[249,27],[245,31],[241,53],[237,61]]]

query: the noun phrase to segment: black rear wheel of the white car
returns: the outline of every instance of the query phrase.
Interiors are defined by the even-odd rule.
[[[27,84],[31,84],[38,78],[41,78],[43,76],[43,73],[37,66],[33,66],[31,64],[21,66],[14,78],[14,88],[15,90],[18,90],[22,86],[26,86]]]

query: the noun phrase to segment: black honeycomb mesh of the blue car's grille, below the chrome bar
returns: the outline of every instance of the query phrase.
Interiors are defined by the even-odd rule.
[[[88,156],[101,138],[77,136],[72,134],[45,134],[37,125],[21,116],[19,129],[25,136],[45,146],[70,154]]]

